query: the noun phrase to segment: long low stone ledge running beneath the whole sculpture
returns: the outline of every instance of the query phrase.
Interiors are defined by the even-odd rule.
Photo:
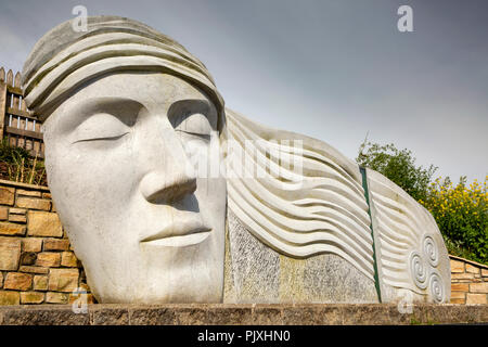
[[[70,305],[3,306],[3,325],[350,325],[488,323],[488,305],[414,305],[400,313],[396,305]]]

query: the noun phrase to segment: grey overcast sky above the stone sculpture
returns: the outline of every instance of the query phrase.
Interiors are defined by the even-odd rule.
[[[488,174],[487,0],[0,1],[0,65],[73,18],[141,21],[210,70],[226,105],[323,140],[350,158],[369,139],[411,150],[437,176]],[[397,10],[413,9],[413,33]]]

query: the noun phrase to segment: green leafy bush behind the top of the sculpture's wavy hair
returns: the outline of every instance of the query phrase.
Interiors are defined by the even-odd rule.
[[[416,201],[427,197],[428,183],[437,170],[433,165],[428,169],[416,167],[412,152],[407,149],[400,151],[393,143],[380,145],[367,140],[360,145],[356,162],[386,176]]]

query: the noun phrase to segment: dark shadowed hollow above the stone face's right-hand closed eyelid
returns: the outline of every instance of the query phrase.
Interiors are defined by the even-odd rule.
[[[207,100],[178,100],[169,106],[168,120],[174,128],[177,128],[184,119],[187,119],[187,116],[200,113],[208,119],[213,129],[217,129],[217,113],[214,110],[215,108],[211,107]]]

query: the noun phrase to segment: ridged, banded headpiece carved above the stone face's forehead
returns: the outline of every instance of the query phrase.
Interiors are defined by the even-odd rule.
[[[215,103],[223,124],[223,99],[205,65],[181,44],[133,20],[88,17],[77,33],[70,21],[46,34],[23,69],[25,102],[41,120],[74,89],[105,74],[123,70],[169,72],[201,87]]]

